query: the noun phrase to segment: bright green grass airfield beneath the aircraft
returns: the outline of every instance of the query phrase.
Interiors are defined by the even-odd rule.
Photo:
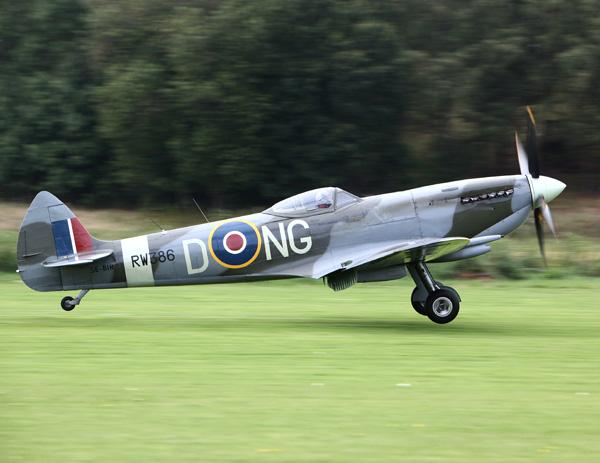
[[[2,462],[598,461],[598,280],[61,293],[0,276]]]

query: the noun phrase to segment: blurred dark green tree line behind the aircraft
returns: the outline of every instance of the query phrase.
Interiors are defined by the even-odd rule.
[[[268,205],[518,172],[598,191],[597,0],[0,0],[0,196]]]

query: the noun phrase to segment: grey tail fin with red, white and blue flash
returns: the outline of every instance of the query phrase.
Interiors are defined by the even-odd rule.
[[[63,289],[60,267],[85,262],[79,260],[80,256],[93,254],[100,243],[60,199],[42,191],[29,206],[19,229],[19,274],[32,289]]]

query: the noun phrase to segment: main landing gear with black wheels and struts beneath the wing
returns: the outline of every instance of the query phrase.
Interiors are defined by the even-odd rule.
[[[439,324],[454,320],[460,310],[460,296],[456,290],[435,281],[423,262],[414,262],[406,267],[417,285],[410,297],[415,311]]]

